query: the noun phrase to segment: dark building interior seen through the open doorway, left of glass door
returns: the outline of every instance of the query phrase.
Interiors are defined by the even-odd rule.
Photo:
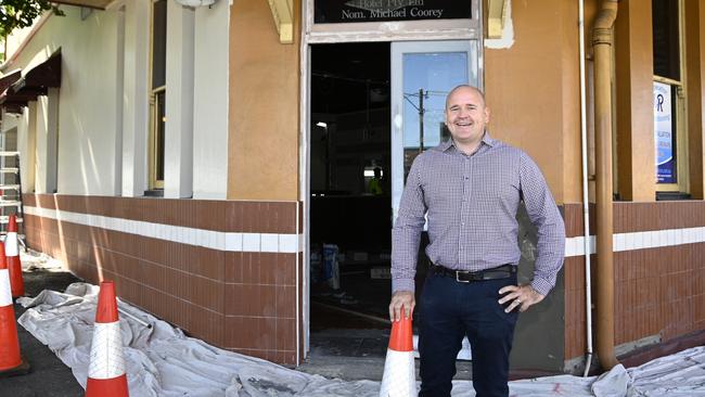
[[[389,74],[388,42],[311,47],[313,347],[332,328],[388,328],[379,320],[390,297]]]

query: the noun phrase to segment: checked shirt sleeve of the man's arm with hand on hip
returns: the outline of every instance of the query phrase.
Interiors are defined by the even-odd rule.
[[[529,219],[538,231],[538,255],[531,286],[546,296],[555,285],[563,266],[565,223],[541,170],[526,153],[522,153],[520,183]]]

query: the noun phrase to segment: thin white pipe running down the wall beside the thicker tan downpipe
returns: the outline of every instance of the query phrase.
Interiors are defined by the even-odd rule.
[[[582,157],[582,249],[585,252],[586,363],[582,376],[592,366],[592,283],[590,266],[590,194],[588,185],[588,111],[585,82],[585,0],[578,0],[578,39],[580,56],[580,156]]]

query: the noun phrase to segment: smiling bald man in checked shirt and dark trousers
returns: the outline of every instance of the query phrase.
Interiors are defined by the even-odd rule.
[[[474,87],[446,99],[451,140],[420,154],[401,196],[392,243],[389,317],[410,316],[421,231],[432,261],[420,297],[420,396],[450,396],[464,336],[477,397],[508,396],[518,311],[538,304],[563,264],[565,228],[546,180],[526,153],[489,137],[489,108]],[[524,201],[538,230],[534,280],[516,285],[516,212]]]

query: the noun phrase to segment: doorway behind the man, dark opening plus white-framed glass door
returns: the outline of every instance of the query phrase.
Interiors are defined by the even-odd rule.
[[[310,46],[311,356],[384,357],[393,218],[415,156],[449,139],[446,94],[478,85],[477,51],[476,40]]]

